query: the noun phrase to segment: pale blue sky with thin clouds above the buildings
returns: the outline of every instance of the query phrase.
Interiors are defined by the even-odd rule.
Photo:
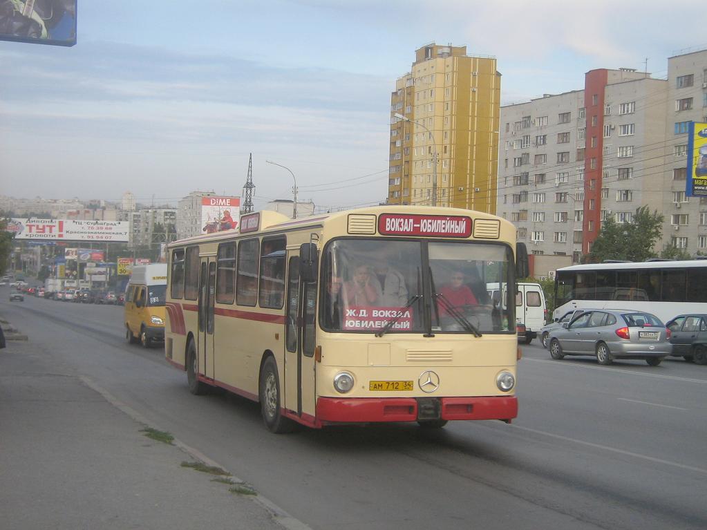
[[[78,0],[77,44],[0,42],[0,194],[317,209],[387,195],[390,94],[430,42],[496,57],[501,105],[595,68],[667,75],[707,48],[696,1]]]

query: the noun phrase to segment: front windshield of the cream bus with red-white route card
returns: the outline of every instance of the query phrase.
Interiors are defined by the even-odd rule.
[[[513,307],[494,305],[486,290],[488,282],[505,288],[510,279],[513,254],[505,245],[336,240],[327,246],[322,263],[323,329],[515,330]]]

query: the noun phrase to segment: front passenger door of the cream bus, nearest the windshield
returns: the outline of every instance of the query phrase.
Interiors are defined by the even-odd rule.
[[[315,417],[317,283],[300,281],[300,257],[290,253],[285,311],[285,408]]]

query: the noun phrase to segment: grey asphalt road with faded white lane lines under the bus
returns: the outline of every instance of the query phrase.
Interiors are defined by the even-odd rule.
[[[159,349],[128,345],[122,307],[26,298],[0,315],[57,365],[247,481],[312,529],[707,528],[707,366],[520,361],[520,413],[501,422],[272,435],[259,408],[192,396]],[[198,507],[195,507],[198,509]]]

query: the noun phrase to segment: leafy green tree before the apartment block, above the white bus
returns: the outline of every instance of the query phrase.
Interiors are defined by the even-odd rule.
[[[608,218],[602,223],[599,235],[592,245],[590,261],[601,263],[605,259],[645,261],[658,257],[653,251],[662,235],[664,217],[658,211],[650,213],[648,206],[636,208],[631,223],[617,224]]]

